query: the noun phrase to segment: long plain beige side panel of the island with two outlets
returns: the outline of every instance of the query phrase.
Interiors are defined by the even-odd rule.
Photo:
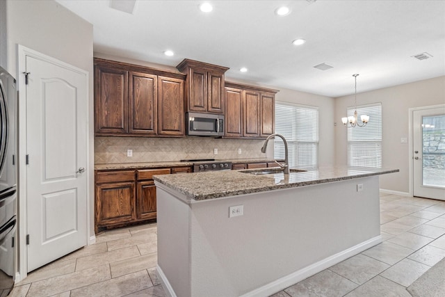
[[[241,204],[243,216],[229,218]],[[381,241],[378,177],[203,200],[191,204],[190,223],[191,296],[278,291]]]

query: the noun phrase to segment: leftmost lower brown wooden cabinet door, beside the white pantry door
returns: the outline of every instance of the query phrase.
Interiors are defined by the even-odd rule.
[[[96,227],[131,222],[134,213],[134,182],[96,185]]]

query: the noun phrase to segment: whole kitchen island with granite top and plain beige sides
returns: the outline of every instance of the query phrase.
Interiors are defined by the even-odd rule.
[[[378,175],[398,170],[252,171],[154,177],[170,296],[270,296],[382,241]]]

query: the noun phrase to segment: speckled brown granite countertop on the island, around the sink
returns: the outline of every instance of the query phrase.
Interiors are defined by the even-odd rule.
[[[252,175],[243,173],[243,171],[252,172],[255,170],[195,172],[186,175],[155,175],[154,180],[156,183],[183,193],[186,196],[187,202],[195,202],[195,200],[209,200],[232,195],[370,177],[398,172],[398,169],[351,168],[347,166],[327,167],[305,172],[291,172],[289,177],[286,178],[282,172],[269,175]]]

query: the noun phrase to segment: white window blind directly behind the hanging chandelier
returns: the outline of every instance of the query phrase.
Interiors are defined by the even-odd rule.
[[[348,116],[355,108],[348,107]],[[348,126],[348,166],[382,167],[382,104],[357,106],[360,115],[369,115],[365,127]],[[359,120],[360,122],[360,120]]]

